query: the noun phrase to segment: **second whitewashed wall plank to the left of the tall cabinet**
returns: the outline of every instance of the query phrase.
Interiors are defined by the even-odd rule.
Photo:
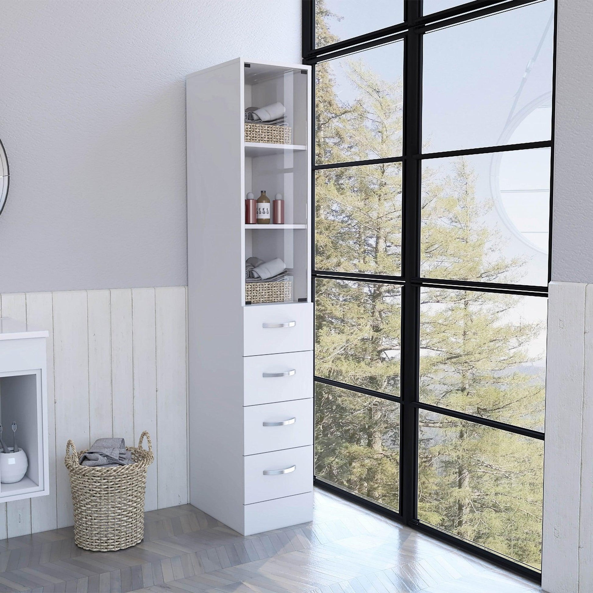
[[[142,431],[152,439],[157,457],[157,360],[154,288],[132,289],[132,333],[134,366],[134,442]],[[144,445],[146,446],[146,444]],[[148,468],[146,478],[146,511],[157,507],[157,464]]]

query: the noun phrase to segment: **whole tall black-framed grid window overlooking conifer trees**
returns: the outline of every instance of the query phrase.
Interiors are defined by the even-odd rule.
[[[305,0],[315,483],[540,575],[554,0]]]

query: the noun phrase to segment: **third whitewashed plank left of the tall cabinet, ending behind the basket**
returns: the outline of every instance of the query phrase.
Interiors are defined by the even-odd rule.
[[[111,291],[111,390],[113,436],[134,439],[134,378],[132,353],[132,290]]]

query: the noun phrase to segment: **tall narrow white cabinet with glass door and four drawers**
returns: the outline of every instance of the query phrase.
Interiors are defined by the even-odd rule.
[[[292,144],[244,140],[279,101]],[[311,69],[238,58],[187,76],[190,501],[244,535],[313,514]],[[285,224],[246,225],[247,192]],[[245,262],[279,257],[292,301],[246,304]]]

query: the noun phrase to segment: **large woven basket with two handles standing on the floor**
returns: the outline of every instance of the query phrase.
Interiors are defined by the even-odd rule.
[[[148,451],[142,448],[146,437]],[[148,432],[138,447],[126,447],[134,463],[118,467],[87,467],[78,462],[74,442],[66,444],[64,463],[70,474],[74,506],[74,541],[85,550],[111,551],[135,546],[144,538],[146,470],[154,461]]]

